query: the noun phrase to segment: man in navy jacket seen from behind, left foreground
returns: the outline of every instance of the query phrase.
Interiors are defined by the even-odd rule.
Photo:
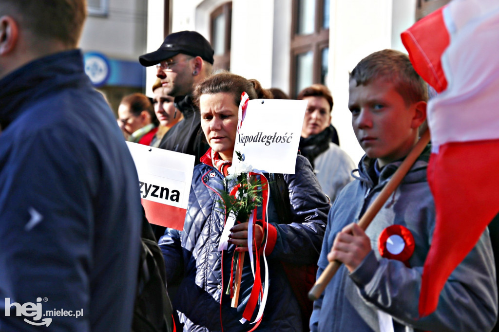
[[[138,178],[76,48],[85,6],[0,1],[2,332],[130,331]]]

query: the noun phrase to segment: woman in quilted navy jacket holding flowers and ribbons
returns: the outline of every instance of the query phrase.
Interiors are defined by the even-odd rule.
[[[237,308],[231,307],[226,294],[232,257],[236,246],[247,241],[248,223],[234,226],[228,250],[218,250],[226,221],[218,192],[230,192],[234,185],[229,182],[226,187],[224,178],[232,163],[239,100],[243,92],[250,99],[257,98],[255,85],[259,87],[254,80],[221,73],[203,81],[195,91],[201,127],[211,148],[201,158],[202,164],[194,168],[184,229],[167,229],[159,241],[169,293],[184,331],[233,332],[255,327],[250,322],[240,322],[253,285],[250,259],[245,260],[243,267]],[[316,265],[330,207],[304,157],[297,156],[295,174],[283,177],[289,189],[290,220],[279,223],[271,197],[263,253],[268,262],[268,298],[257,331],[303,331],[302,326],[306,326],[282,263]],[[264,241],[263,229],[257,224],[254,232],[259,246]]]

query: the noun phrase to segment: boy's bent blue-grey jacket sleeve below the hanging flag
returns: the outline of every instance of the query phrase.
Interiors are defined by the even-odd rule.
[[[366,301],[404,325],[432,331],[490,331],[498,300],[492,250],[485,236],[449,278],[437,310],[422,319],[418,319],[422,267],[407,268],[402,262],[381,259],[367,283],[359,278],[360,271],[351,278]]]

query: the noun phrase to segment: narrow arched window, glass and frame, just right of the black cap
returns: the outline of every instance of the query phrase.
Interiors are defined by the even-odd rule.
[[[213,69],[229,70],[231,67],[232,2],[226,2],[212,11],[210,20],[211,44],[215,51]]]

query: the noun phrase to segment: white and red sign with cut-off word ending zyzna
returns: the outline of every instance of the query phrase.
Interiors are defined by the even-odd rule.
[[[194,156],[127,142],[139,175],[147,220],[182,230],[194,170]]]

